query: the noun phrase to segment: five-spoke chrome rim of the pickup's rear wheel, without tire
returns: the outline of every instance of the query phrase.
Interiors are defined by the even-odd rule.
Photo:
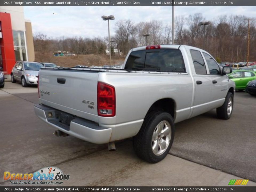
[[[162,155],[171,140],[171,125],[168,121],[161,121],[155,127],[152,135],[152,151],[155,155]]]

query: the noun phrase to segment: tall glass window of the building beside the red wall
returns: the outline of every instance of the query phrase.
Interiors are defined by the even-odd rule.
[[[16,61],[27,61],[25,37],[23,31],[13,31],[13,44]]]

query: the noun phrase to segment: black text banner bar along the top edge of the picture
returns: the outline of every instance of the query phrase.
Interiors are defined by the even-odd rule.
[[[1,0],[0,6],[171,6],[172,1],[158,0]],[[175,0],[174,6],[255,6],[254,0]]]

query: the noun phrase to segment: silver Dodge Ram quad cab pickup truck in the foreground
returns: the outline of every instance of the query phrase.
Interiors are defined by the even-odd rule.
[[[156,163],[169,152],[174,123],[217,108],[229,119],[235,84],[206,51],[185,45],[130,50],[123,69],[41,69],[37,116],[92,143],[133,137],[135,153]],[[207,127],[205,128],[207,129]]]

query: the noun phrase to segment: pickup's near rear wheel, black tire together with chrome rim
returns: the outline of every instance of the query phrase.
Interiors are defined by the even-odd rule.
[[[141,159],[157,163],[169,153],[173,139],[173,117],[163,111],[153,111],[146,115],[139,133],[133,138],[133,148]]]

